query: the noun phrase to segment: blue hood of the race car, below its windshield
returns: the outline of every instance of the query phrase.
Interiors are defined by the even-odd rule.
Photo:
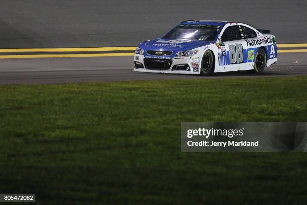
[[[208,44],[212,41],[199,41],[199,40],[170,40],[170,39],[154,39],[145,41],[139,45],[141,49],[145,50],[160,50],[160,51],[186,51]]]

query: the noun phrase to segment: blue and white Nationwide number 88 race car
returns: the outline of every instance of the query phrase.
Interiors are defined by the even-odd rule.
[[[138,45],[134,71],[209,75],[247,70],[263,72],[277,61],[269,30],[229,21],[183,21],[162,38]]]

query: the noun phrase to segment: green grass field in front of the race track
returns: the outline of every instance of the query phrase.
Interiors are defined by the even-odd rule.
[[[0,193],[305,204],[305,153],[181,153],[182,121],[307,121],[307,77],[0,86]]]

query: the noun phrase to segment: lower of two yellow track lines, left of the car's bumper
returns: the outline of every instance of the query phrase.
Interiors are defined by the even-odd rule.
[[[80,57],[108,57],[108,56],[133,56],[133,55],[134,55],[134,53],[0,55],[0,59],[9,59],[9,58],[80,58]]]

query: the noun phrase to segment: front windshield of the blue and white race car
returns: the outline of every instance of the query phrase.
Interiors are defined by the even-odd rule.
[[[162,38],[214,41],[219,29],[215,25],[180,24]]]

